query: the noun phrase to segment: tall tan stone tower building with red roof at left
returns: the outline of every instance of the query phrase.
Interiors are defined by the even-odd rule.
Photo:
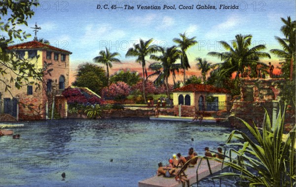
[[[45,63],[52,63],[47,68],[53,70],[50,74],[43,76],[42,82],[38,82],[41,89],[36,89],[35,84],[23,86],[19,90],[11,85],[11,93],[9,93],[5,92],[3,84],[0,85],[0,113],[11,114],[20,120],[45,119],[46,111],[54,103],[56,112],[62,118],[67,117],[67,101],[61,92],[69,86],[69,57],[72,53],[36,40],[9,46],[7,53],[13,53],[15,58],[35,64],[36,68],[44,68]],[[11,76],[13,75],[7,74],[4,77],[1,76],[1,79],[10,84]],[[36,82],[36,80],[32,81]],[[23,104],[30,105],[33,110]]]

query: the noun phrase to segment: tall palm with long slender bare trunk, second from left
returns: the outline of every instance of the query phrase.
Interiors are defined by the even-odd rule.
[[[145,95],[145,81],[148,77],[147,70],[146,70],[146,60],[145,57],[155,53],[157,51],[155,45],[150,45],[153,41],[153,38],[149,39],[148,41],[143,41],[140,38],[140,43],[134,44],[133,48],[129,48],[125,57],[138,57],[136,62],[142,63],[142,70],[143,70],[143,96],[144,101],[146,103],[146,95]],[[146,79],[145,79],[146,74]]]

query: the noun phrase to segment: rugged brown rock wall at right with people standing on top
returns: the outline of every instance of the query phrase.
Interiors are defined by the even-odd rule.
[[[241,93],[234,96],[230,110],[236,117],[261,126],[265,109],[272,115],[272,100],[279,99],[279,85],[285,84],[284,79],[241,79]],[[232,126],[243,126],[234,118],[228,118]]]

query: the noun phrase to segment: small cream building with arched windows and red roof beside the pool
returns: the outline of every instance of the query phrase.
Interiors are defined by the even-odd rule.
[[[195,111],[230,110],[230,99],[228,90],[212,85],[189,84],[173,91],[175,115],[179,115],[181,105],[182,116],[194,116]]]

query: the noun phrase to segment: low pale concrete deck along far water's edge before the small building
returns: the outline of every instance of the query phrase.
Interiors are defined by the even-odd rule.
[[[166,120],[166,121],[184,121],[184,122],[192,122],[193,117],[179,117],[179,116],[162,116],[159,115],[158,118],[156,116],[150,116],[150,120]],[[226,118],[213,118],[213,117],[204,117],[202,122],[206,123],[218,123],[227,120]],[[199,123],[199,121],[194,121],[192,123]]]

